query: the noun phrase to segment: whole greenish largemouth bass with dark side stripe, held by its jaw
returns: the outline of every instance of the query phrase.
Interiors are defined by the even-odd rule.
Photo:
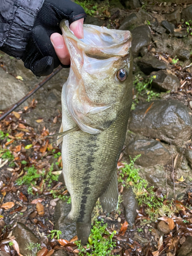
[[[58,137],[72,204],[66,221],[76,222],[77,237],[85,244],[97,199],[108,212],[118,203],[116,167],[133,95],[132,36],[129,31],[83,25],[84,39],[78,39],[68,22],[60,27],[71,57]]]

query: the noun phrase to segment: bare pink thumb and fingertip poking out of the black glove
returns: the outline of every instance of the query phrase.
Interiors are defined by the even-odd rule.
[[[84,18],[81,18],[70,25],[70,29],[79,39],[83,38],[83,20]],[[62,65],[70,65],[69,52],[67,50],[62,35],[60,35],[59,33],[53,33],[51,35],[51,42],[55,49],[55,53],[57,54],[57,57],[59,58]]]

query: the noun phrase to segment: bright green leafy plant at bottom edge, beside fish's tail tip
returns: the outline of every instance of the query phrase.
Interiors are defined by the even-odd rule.
[[[103,222],[96,221],[95,225],[91,229],[91,234],[89,237],[89,243],[87,244],[87,248],[84,248],[80,241],[76,241],[76,245],[80,250],[79,255],[97,255],[97,256],[106,256],[111,255],[111,251],[115,247],[115,243],[112,241],[116,231],[110,235],[108,231],[106,231],[107,224],[103,224]],[[103,234],[107,235],[106,238],[103,238]]]

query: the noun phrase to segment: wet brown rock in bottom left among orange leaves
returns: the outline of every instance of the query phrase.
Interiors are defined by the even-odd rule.
[[[38,243],[38,238],[34,235],[34,233],[27,228],[23,223],[17,223],[17,226],[13,229],[13,236],[15,236],[15,240],[18,243],[19,251],[23,255],[30,255],[36,256],[37,247],[34,247],[31,250],[27,249],[27,245],[30,243]]]

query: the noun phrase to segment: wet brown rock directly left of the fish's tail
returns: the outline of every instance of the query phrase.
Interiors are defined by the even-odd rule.
[[[61,238],[70,241],[76,236],[76,223],[65,222],[65,218],[68,216],[71,210],[71,204],[66,201],[59,200],[55,206],[55,229],[62,232]]]

